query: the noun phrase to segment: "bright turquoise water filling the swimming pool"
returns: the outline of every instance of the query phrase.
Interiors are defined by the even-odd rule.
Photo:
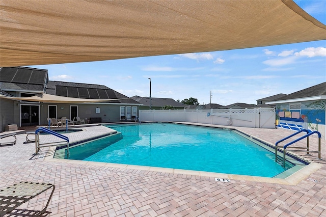
[[[274,177],[275,154],[232,130],[182,124],[108,125],[114,137],[70,148],[69,159]]]

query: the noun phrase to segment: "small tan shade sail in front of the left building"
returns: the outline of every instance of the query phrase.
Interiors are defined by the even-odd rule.
[[[71,98],[65,96],[56,96],[51,94],[37,94],[35,96],[30,97],[7,97],[4,95],[0,95],[0,98],[8,98],[15,100],[24,100],[24,101],[33,101],[33,102],[48,102],[48,103],[86,103],[86,102],[108,102],[117,99],[79,99],[79,98]]]

